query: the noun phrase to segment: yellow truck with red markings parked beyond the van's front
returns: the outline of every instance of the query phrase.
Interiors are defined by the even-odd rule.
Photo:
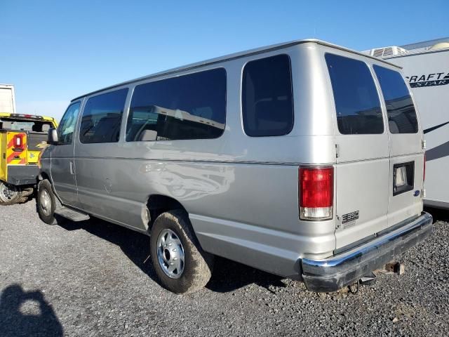
[[[0,205],[27,201],[36,186],[39,156],[51,117],[0,112]]]

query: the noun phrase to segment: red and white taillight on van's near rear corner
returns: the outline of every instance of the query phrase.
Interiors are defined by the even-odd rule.
[[[300,167],[299,206],[302,220],[333,218],[334,168]]]

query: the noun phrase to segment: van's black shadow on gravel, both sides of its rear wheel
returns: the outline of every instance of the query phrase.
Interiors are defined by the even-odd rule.
[[[59,217],[57,220],[60,227],[65,230],[86,230],[96,237],[116,244],[142,272],[159,284],[152,261],[149,259],[149,237],[147,235],[97,218],[78,223]],[[281,279],[279,276],[262,272],[253,267],[217,257],[212,278],[206,288],[225,293],[248,284],[257,284],[269,290],[269,286],[285,287],[286,285],[281,282]]]

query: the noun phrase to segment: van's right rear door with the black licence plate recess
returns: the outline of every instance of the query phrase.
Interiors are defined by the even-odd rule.
[[[388,117],[390,183],[387,227],[422,211],[422,132],[406,81],[397,70],[374,65]]]

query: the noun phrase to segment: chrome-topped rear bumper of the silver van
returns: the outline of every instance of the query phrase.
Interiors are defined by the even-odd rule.
[[[379,269],[401,253],[429,237],[433,229],[432,216],[421,216],[403,226],[350,251],[323,260],[303,258],[302,279],[310,291],[332,292],[349,286],[363,275]]]

